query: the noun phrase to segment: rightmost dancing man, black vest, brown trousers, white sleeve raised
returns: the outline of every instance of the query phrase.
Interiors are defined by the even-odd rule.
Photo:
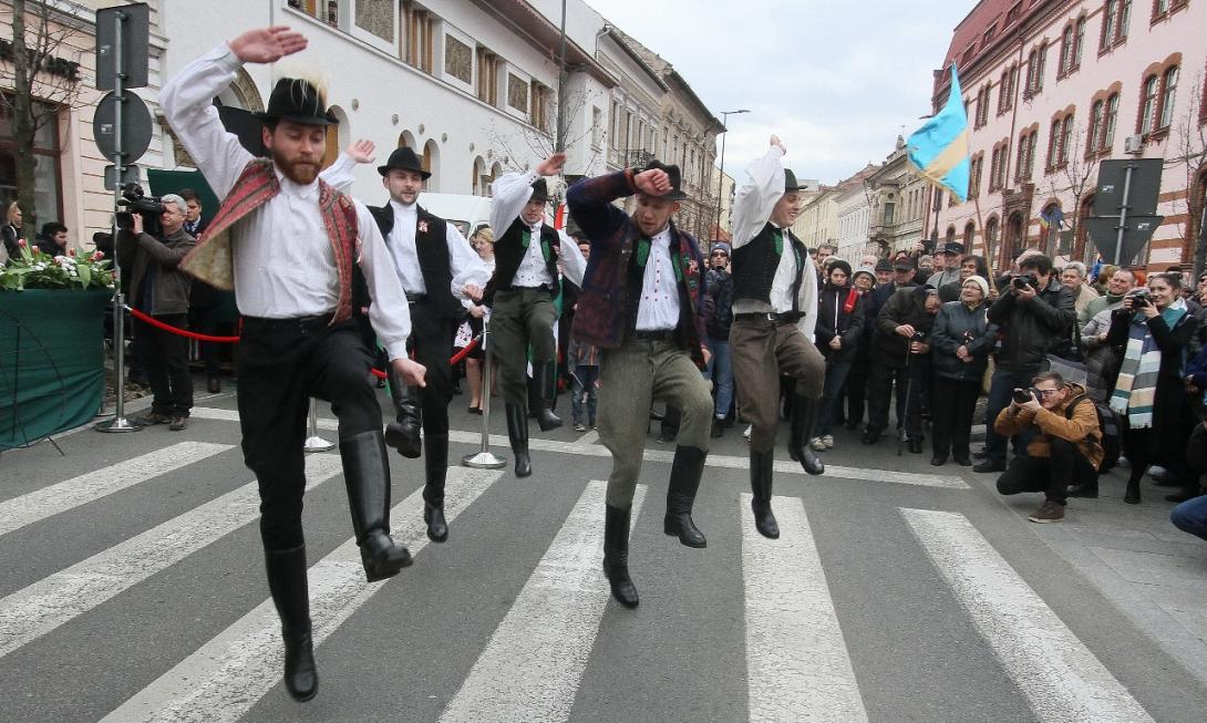
[[[734,197],[734,323],[729,330],[737,400],[751,420],[754,526],[780,536],[771,513],[771,471],[779,424],[780,375],[794,377],[788,449],[810,474],[826,472],[809,447],[826,378],[826,360],[810,340],[817,322],[817,272],[791,231],[803,199],[797,176],[781,162],[787,150],[771,136],[766,154],[746,169]]]

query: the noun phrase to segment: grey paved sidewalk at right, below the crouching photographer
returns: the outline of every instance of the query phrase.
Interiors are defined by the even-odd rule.
[[[1170,523],[1172,502],[1148,477],[1142,502],[1124,505],[1127,470],[1102,477],[1098,498],[1071,498],[1062,523],[1031,527],[1066,561],[1207,684],[1207,542]],[[993,490],[997,474],[970,474]],[[1039,495],[1005,498],[1028,515]],[[1154,671],[1158,672],[1158,671]]]

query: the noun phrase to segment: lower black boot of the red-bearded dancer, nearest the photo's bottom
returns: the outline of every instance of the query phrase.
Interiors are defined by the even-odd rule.
[[[310,640],[310,593],[307,588],[305,546],[264,550],[268,590],[281,617],[285,640],[285,689],[293,700],[310,700],[319,692]]]

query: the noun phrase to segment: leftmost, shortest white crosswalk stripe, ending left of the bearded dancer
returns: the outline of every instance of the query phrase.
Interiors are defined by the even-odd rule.
[[[0,536],[228,449],[231,444],[180,442],[0,502]]]

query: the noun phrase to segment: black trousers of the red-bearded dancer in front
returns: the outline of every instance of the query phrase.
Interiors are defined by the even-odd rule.
[[[369,380],[369,355],[355,322],[328,316],[244,317],[239,340],[239,425],[243,459],[260,485],[266,550],[305,542],[302,495],[310,397],[331,402],[339,439],[381,432],[381,407]]]

